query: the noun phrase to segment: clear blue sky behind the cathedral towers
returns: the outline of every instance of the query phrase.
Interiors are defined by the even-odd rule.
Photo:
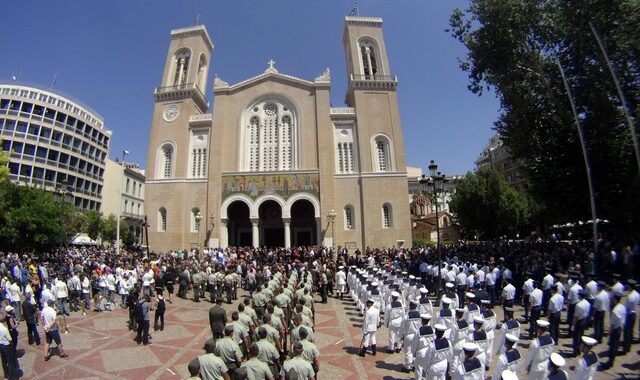
[[[391,70],[398,76],[407,165],[436,160],[464,174],[492,134],[499,108],[467,90],[458,68],[464,47],[444,30],[462,0],[360,0],[361,16],[384,19]],[[171,29],[200,12],[214,44],[207,98],[217,73],[229,83],[262,73],[273,58],[284,74],[312,80],[331,69],[333,106],[344,105],[344,16],[351,0],[6,1],[0,11],[0,79],[48,86],[88,104],[113,131],[110,156],[147,161],[153,90]]]

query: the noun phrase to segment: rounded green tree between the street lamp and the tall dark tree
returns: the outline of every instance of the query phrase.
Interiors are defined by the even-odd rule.
[[[466,236],[483,239],[513,236],[530,216],[526,195],[494,169],[459,180],[450,207]]]

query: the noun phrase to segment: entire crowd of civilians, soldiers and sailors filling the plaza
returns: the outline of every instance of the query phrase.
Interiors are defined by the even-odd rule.
[[[603,251],[610,249],[605,243],[601,246]],[[609,361],[602,363],[606,368],[613,364],[620,340],[625,350],[633,342],[637,291],[629,273],[638,267],[640,247],[629,247],[625,252],[593,255],[588,244],[563,242],[457,244],[442,248],[442,266],[437,264],[436,250],[425,247],[353,252],[343,248],[331,252],[322,246],[227,248],[172,251],[152,258],[125,250],[117,255],[114,250],[94,247],[31,255],[2,253],[0,286],[6,315],[0,317],[6,323],[0,327],[0,356],[5,374],[18,373],[16,326],[21,321],[27,325],[29,344],[40,343],[40,324],[47,342],[55,342],[57,353],[66,356],[60,336],[67,331],[64,317],[92,309],[128,308],[129,328],[136,332],[134,340],[150,344],[151,313],[154,330],[163,330],[164,312],[177,290],[177,297],[214,304],[210,311],[212,340],[205,345],[205,354],[189,365],[190,371],[197,368],[205,379],[291,378],[294,373],[299,378],[313,378],[320,367],[313,344],[314,304],[326,303],[330,294],[352,297],[365,317],[364,326],[368,327],[361,354],[369,349],[376,353],[375,330],[384,323],[389,328],[389,349],[404,350],[406,369],[414,371],[416,378],[434,375],[433,371],[442,367],[446,355],[434,348],[444,344],[442,339],[448,340],[453,355],[446,357],[445,373],[484,378],[484,370],[494,367],[496,378],[498,368],[505,367],[505,352],[517,350],[512,337],[520,339],[520,326],[517,330],[513,327],[518,323],[513,307],[518,304],[524,305],[532,347],[535,342],[542,346],[540,336],[546,335],[552,346],[557,344],[565,309],[574,354],[592,354],[581,346],[591,342],[586,339],[590,338],[588,328],[593,327],[596,342],[607,330],[612,348]],[[620,272],[618,269],[624,270],[616,281],[614,271]],[[446,286],[436,299],[439,284]],[[247,297],[239,299],[240,288]],[[223,316],[223,303],[234,301],[237,311]],[[505,321],[497,321],[496,305],[503,306]],[[443,313],[447,315],[441,316]],[[603,326],[605,313],[610,315],[608,329]],[[462,321],[467,323],[463,333],[459,327]],[[429,330],[430,338],[420,335]],[[486,334],[485,341],[481,331]],[[493,352],[496,339],[499,348]],[[472,345],[470,355],[467,349]],[[548,351],[547,356],[538,357],[546,351],[537,350],[538,356],[527,358],[527,371],[535,373],[542,362],[548,371],[553,350]],[[45,360],[55,352],[45,345]],[[476,377],[460,372],[460,366],[469,365],[465,364],[466,356],[480,360],[482,377],[471,370]],[[259,373],[263,375],[256,375]]]

